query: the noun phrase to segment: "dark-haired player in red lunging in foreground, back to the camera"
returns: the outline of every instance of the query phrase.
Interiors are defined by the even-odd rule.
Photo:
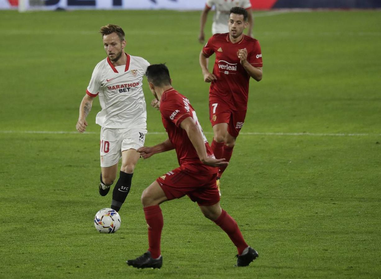
[[[159,204],[187,195],[237,247],[237,266],[249,265],[258,253],[246,244],[237,222],[219,205],[217,167],[228,163],[225,159],[215,159],[189,100],[171,86],[168,68],[164,64],[150,65],[146,75],[152,94],[160,101],[168,139],[153,147],[141,147],[138,152],[147,159],[156,153],[176,149],[180,166],[156,179],[143,191],[141,201],[148,225],[149,249],[142,256],[128,260],[127,264],[136,268],[162,267],[160,239],[163,215]]]

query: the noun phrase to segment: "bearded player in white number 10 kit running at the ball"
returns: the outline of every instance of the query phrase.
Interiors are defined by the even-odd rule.
[[[149,66],[147,60],[126,54],[125,33],[118,25],[101,27],[107,57],[93,71],[85,97],[79,108],[76,125],[83,133],[93,99],[99,96],[102,110],[96,116],[101,126],[100,155],[101,178],[99,194],[107,195],[117,176],[118,162],[122,158],[119,179],[115,184],[111,208],[119,211],[130,192],[134,168],[139,159],[136,150],[144,146],[147,133],[146,102],[142,80]]]

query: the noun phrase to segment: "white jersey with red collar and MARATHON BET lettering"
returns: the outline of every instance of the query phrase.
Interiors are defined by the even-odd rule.
[[[127,55],[126,65],[114,67],[109,57],[99,62],[93,71],[86,94],[99,95],[102,110],[96,124],[105,128],[146,128],[146,101],[142,90],[147,60]]]

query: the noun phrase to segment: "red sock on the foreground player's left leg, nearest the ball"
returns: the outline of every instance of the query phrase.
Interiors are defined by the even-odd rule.
[[[148,250],[151,252],[152,258],[158,258],[161,255],[160,238],[162,236],[163,229],[162,210],[158,205],[147,206],[143,209],[148,225]]]

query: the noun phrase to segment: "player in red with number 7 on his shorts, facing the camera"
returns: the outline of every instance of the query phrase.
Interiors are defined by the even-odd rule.
[[[234,7],[229,15],[229,33],[215,34],[200,52],[200,66],[209,90],[209,115],[213,126],[211,148],[215,157],[229,162],[235,139],[245,121],[250,77],[262,79],[262,53],[258,40],[245,36],[247,10]],[[213,73],[208,58],[216,54]],[[226,166],[221,166],[219,178]]]

